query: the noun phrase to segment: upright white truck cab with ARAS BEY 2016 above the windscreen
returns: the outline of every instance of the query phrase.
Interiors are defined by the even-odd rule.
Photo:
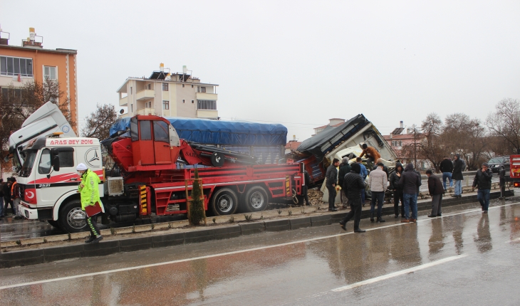
[[[20,211],[26,218],[49,221],[74,232],[85,226],[76,165],[83,163],[98,174],[99,193],[103,195],[103,160],[98,139],[58,134],[33,139],[20,150],[25,157],[16,179],[21,193]],[[61,209],[63,206],[71,207]]]

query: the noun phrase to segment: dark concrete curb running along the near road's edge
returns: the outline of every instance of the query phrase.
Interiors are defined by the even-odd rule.
[[[492,192],[490,199],[499,198],[499,192]],[[514,191],[506,191],[506,196],[514,196]],[[473,203],[477,196],[464,196],[463,198],[447,198],[442,200],[442,206],[454,206]],[[425,211],[431,208],[430,201],[417,204],[417,210]],[[392,204],[383,207],[383,214],[393,215]],[[193,231],[183,233],[166,233],[164,235],[120,238],[115,241],[101,241],[96,244],[71,243],[66,246],[38,248],[31,250],[10,250],[0,253],[0,268],[10,268],[19,265],[36,265],[38,263],[50,263],[56,260],[68,258],[83,258],[90,256],[110,255],[134,250],[147,250],[150,248],[163,248],[166,246],[178,246],[187,243],[199,243],[219,239],[234,238],[243,235],[251,235],[264,231],[288,231],[311,226],[325,226],[338,223],[346,215],[345,211],[330,213],[320,216],[302,216],[301,218],[284,218],[278,220],[254,221],[241,223],[223,228],[194,228]],[[370,211],[363,211],[361,218],[369,218]],[[84,233],[83,233],[84,236]]]

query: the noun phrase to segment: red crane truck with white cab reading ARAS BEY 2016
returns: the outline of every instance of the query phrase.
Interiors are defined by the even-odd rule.
[[[263,211],[276,199],[301,201],[303,164],[257,164],[246,154],[187,142],[162,117],[132,117],[128,136],[103,145],[115,162],[110,169],[103,167],[98,139],[54,133],[28,142],[20,151],[24,164],[17,179],[22,214],[63,231],[85,230],[75,168],[80,162],[103,181],[103,210],[115,222],[187,213],[195,165],[204,207],[215,215]],[[187,167],[179,169],[180,162]]]

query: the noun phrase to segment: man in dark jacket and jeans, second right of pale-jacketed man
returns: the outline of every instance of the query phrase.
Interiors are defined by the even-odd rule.
[[[405,200],[405,219],[401,222],[409,223],[417,221],[417,190],[421,186],[421,176],[413,170],[413,164],[407,164],[405,172],[401,174],[399,184],[402,186],[402,197]],[[412,218],[410,218],[410,208]]]

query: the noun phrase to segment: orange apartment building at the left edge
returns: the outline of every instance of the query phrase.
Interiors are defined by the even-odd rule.
[[[43,48],[43,37],[29,28],[29,37],[21,46],[9,45],[9,32],[0,29],[0,90],[16,90],[27,82],[56,80],[59,90],[70,99],[71,116],[78,122],[78,85],[76,55],[78,51]],[[78,133],[78,126],[73,127]]]

